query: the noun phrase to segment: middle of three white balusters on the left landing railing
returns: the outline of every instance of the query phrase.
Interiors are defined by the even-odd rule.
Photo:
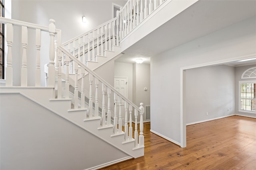
[[[21,86],[28,86],[28,68],[27,68],[27,46],[28,46],[28,27],[22,26],[22,67],[21,67]]]

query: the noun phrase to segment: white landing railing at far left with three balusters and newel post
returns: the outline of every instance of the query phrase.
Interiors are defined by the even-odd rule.
[[[55,47],[54,47],[54,39],[55,35],[57,35],[57,40],[61,42],[61,30],[55,28],[55,21],[50,20],[50,24],[48,27],[37,25],[34,23],[28,23],[24,21],[12,20],[8,18],[0,17],[0,22],[6,24],[6,41],[8,46],[7,52],[7,66],[6,66],[6,86],[13,86],[13,56],[12,56],[12,45],[13,43],[20,43],[14,39],[14,25],[21,29],[21,45],[22,46],[22,67],[21,69],[21,82],[20,86],[28,86],[28,56],[27,56],[27,48],[28,46],[28,34],[31,33],[29,29],[35,30],[36,44],[34,49],[36,49],[36,63],[34,63],[35,67],[35,86],[41,86],[40,73],[42,66],[40,66],[40,49],[41,49],[41,34],[42,31],[49,33],[50,42],[48,43],[49,47],[49,59],[50,62],[48,64],[49,74],[48,74],[48,83],[46,86],[54,87],[55,86],[55,66],[54,66],[54,57],[55,57]],[[32,46],[30,46],[32,47]],[[33,48],[33,47],[32,47]],[[33,66],[31,66],[33,67]]]

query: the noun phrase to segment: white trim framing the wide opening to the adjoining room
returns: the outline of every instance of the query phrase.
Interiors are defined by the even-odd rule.
[[[184,77],[185,75],[183,74],[183,70],[191,69],[191,68],[198,68],[198,67],[203,67],[203,66],[213,66],[213,65],[218,65],[218,64],[225,64],[225,63],[231,63],[234,61],[239,61],[239,60],[244,60],[244,59],[251,59],[255,58],[256,54],[251,54],[251,55],[245,55],[241,57],[235,57],[231,59],[224,59],[220,61],[213,61],[209,63],[202,63],[202,64],[196,64],[192,66],[186,66],[186,67],[181,67],[180,68],[180,141],[184,144],[186,143],[186,123],[184,123],[184,119],[186,119],[186,115],[183,113],[183,108],[186,106],[186,104],[183,104],[184,101],[184,96],[186,95],[186,92],[184,90],[185,88],[185,83],[184,83]]]

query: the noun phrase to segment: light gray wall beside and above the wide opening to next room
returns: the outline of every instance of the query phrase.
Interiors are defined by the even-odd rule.
[[[250,18],[151,57],[151,129],[180,141],[180,68],[256,53]]]

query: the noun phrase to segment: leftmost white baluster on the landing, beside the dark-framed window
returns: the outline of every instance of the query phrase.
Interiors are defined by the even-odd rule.
[[[6,86],[12,86],[12,43],[13,43],[13,25],[11,23],[6,24],[6,41],[8,46],[7,52],[7,66],[6,66]]]

